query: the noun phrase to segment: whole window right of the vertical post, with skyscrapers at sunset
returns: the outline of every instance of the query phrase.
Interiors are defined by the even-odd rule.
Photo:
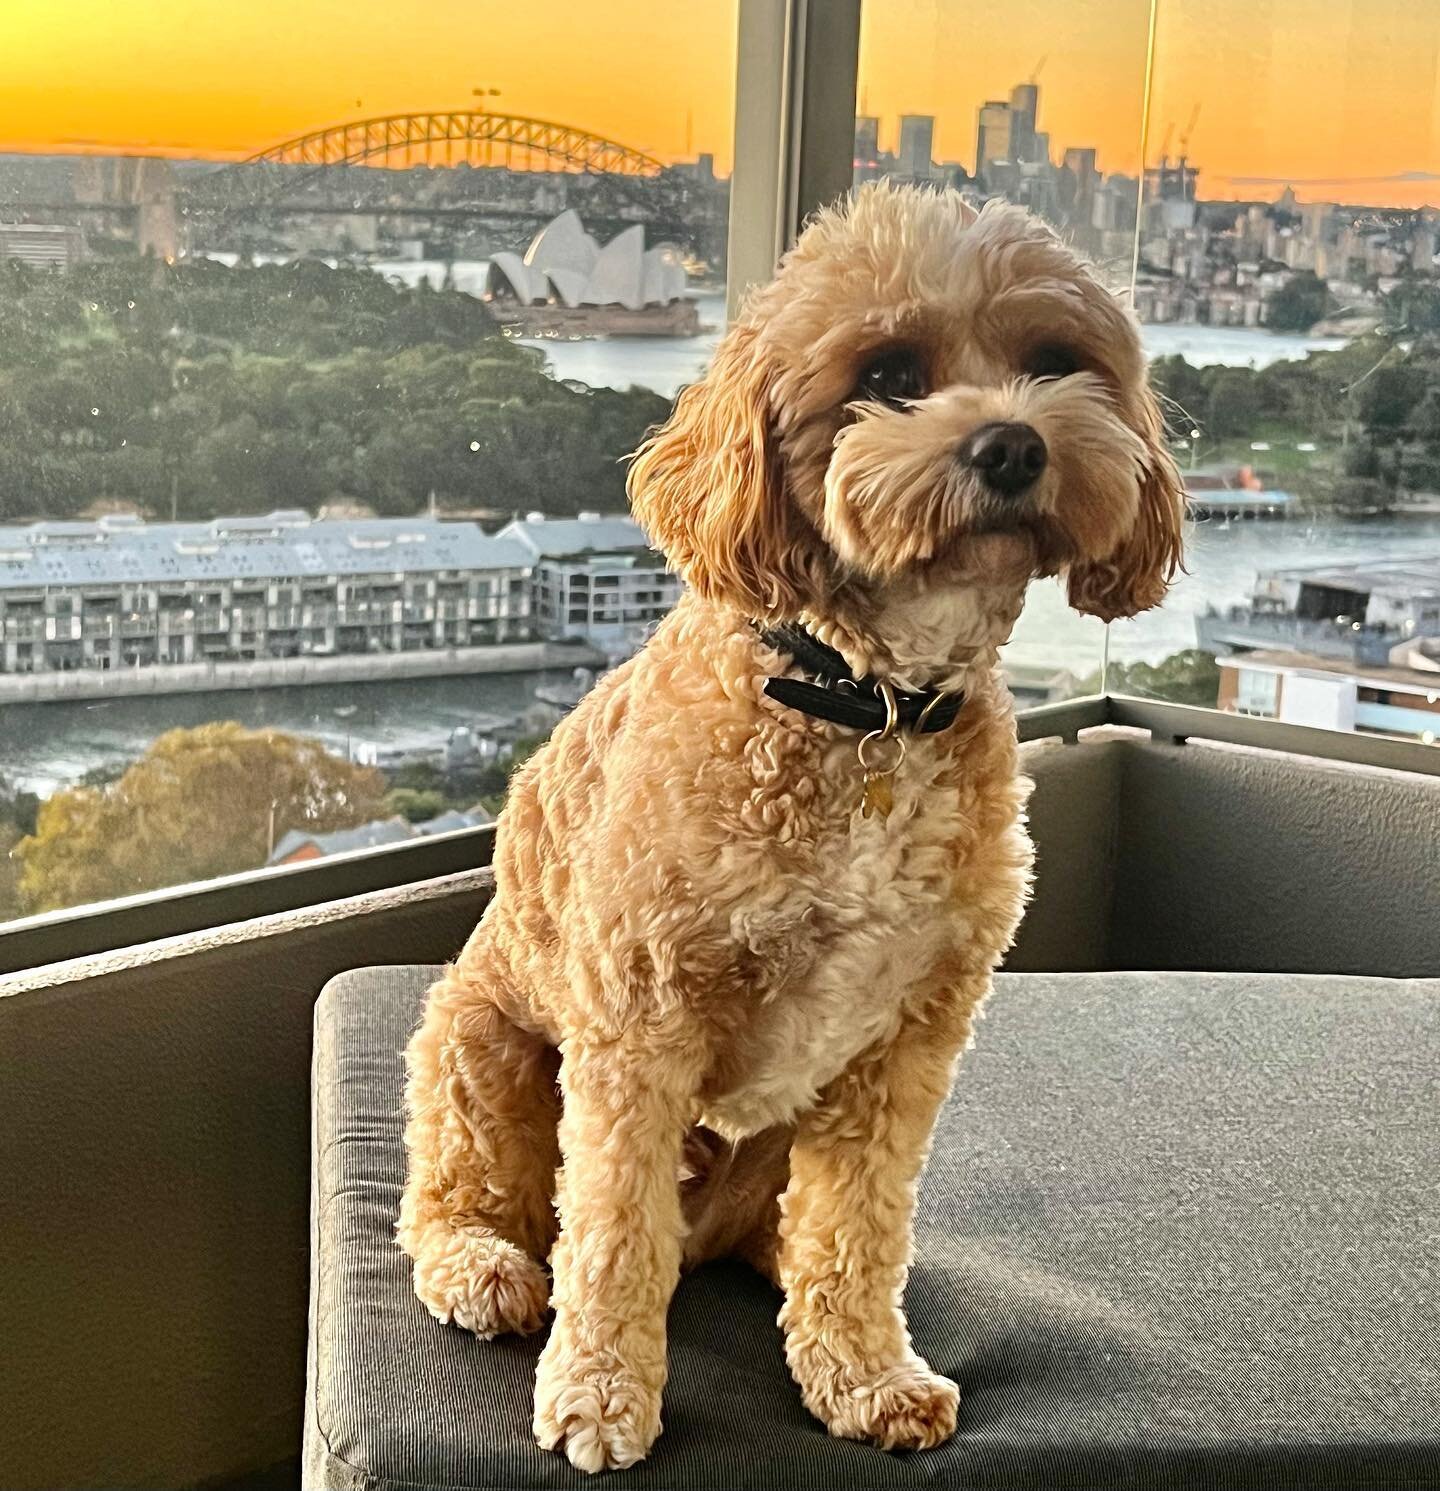
[[[869,4],[863,25],[856,179],[1021,201],[1085,250],[1133,298],[1194,507],[1163,607],[1102,637],[1032,590],[1017,695],[1097,686],[1102,649],[1112,692],[1210,707],[1236,650],[1422,684],[1440,12],[1157,0],[1148,112],[1148,0]]]

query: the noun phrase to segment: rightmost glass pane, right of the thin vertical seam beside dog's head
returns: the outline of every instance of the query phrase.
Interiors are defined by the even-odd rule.
[[[1136,304],[1197,520],[1111,687],[1434,741],[1440,9],[1161,0],[1151,119]]]

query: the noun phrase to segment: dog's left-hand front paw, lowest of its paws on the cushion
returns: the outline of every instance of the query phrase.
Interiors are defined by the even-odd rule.
[[[663,1369],[647,1375],[614,1352],[571,1349],[553,1331],[535,1373],[535,1440],[565,1448],[577,1470],[623,1470],[644,1460],[660,1433]]]

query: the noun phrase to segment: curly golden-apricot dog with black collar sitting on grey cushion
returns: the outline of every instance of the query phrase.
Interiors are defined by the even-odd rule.
[[[513,780],[407,1051],[398,1239],[440,1321],[553,1305],[535,1436],[583,1470],[650,1449],[671,1293],[720,1255],[778,1284],[830,1433],[933,1446],[915,1187],[1032,869],[996,650],[1032,579],[1111,620],[1181,558],[1136,322],[1020,209],[869,186],[629,491],[686,593]]]

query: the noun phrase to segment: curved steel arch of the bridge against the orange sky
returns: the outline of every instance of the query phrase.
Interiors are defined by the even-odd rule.
[[[541,157],[549,168],[605,176],[659,176],[663,163],[628,145],[549,119],[484,109],[353,119],[283,140],[244,166],[511,166]]]

